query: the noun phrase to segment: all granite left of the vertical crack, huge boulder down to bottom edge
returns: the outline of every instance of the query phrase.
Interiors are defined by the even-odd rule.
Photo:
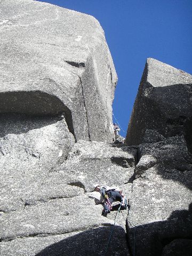
[[[31,0],[0,1],[0,255],[103,255],[93,183],[130,197],[137,149],[115,139],[117,76],[99,22]],[[107,255],[129,255],[127,211]]]

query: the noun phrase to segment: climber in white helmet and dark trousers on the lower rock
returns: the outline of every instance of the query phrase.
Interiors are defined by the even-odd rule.
[[[110,210],[112,209],[111,204],[113,202],[121,202],[121,209],[127,209],[127,199],[118,188],[94,185],[94,190],[101,194],[100,202],[102,203],[104,201],[104,207],[102,210],[102,215],[104,217],[107,217],[107,214],[110,213]]]

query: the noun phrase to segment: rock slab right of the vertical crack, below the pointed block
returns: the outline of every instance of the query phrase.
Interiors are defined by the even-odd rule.
[[[192,156],[183,137],[141,144],[138,156],[128,240],[135,255],[158,256],[173,239],[191,238]]]

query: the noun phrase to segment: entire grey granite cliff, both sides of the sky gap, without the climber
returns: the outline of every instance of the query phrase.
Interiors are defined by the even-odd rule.
[[[0,256],[189,256],[191,75],[148,59],[112,143],[117,77],[99,22],[31,0],[0,8]],[[119,204],[102,217],[95,183],[130,198],[107,252]]]

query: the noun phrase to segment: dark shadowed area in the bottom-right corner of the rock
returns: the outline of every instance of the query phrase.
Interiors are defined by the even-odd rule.
[[[127,221],[127,236],[135,256],[190,256],[192,242],[191,204],[175,210],[166,220],[149,223]],[[145,234],[145,235],[144,235]]]

